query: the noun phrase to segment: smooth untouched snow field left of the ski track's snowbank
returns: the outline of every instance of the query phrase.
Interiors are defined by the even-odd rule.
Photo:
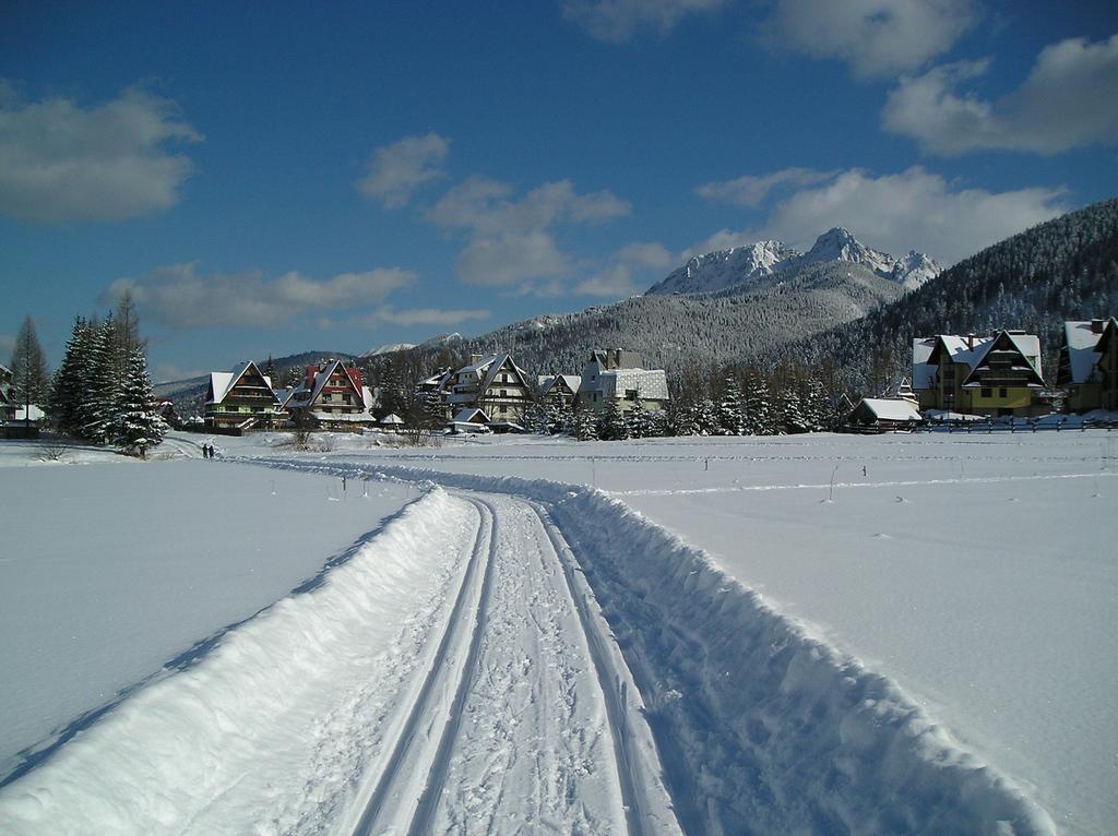
[[[200,458],[67,457],[82,466],[0,445],[0,778],[417,496]]]

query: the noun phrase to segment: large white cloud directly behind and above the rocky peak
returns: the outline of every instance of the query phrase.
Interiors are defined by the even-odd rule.
[[[844,226],[868,246],[898,256],[921,250],[946,266],[1068,211],[1062,199],[1060,189],[956,188],[920,167],[881,177],[853,169],[778,202],[757,230],[719,235],[736,235],[739,243],[776,238],[803,248]]]

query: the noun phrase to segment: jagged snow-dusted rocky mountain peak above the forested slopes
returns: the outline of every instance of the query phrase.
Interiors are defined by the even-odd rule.
[[[912,250],[903,258],[894,258],[866,247],[847,229],[835,227],[821,235],[807,253],[798,253],[781,241],[757,241],[697,256],[648,288],[646,295],[718,293],[777,273],[790,277],[809,266],[832,262],[860,264],[906,291],[916,289],[940,273],[935,259],[923,253]]]

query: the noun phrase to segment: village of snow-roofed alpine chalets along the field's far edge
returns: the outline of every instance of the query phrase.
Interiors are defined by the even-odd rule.
[[[1118,319],[1064,323],[1059,368],[1048,382],[1041,358],[1039,338],[1017,330],[916,338],[911,374],[882,397],[853,403],[842,396],[833,405],[836,428],[911,430],[935,421],[1010,418],[1035,426],[1053,412],[1118,410]],[[418,389],[427,428],[451,434],[525,431],[533,408],[540,407],[600,421],[610,411],[657,414],[669,406],[665,371],[644,368],[638,353],[622,349],[590,351],[580,372],[536,381],[508,353],[474,355],[466,365],[438,371]],[[256,363],[245,362],[210,374],[205,415],[193,421],[197,429],[239,435],[284,427],[404,431],[417,420],[386,414],[379,396],[356,364],[341,360],[307,365],[302,381],[288,388],[274,387]],[[9,418],[17,416],[15,405],[4,401],[4,409]]]

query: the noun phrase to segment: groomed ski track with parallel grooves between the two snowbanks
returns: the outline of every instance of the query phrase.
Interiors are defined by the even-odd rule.
[[[561,535],[522,500],[470,501],[484,522],[435,667],[344,832],[676,832]]]

